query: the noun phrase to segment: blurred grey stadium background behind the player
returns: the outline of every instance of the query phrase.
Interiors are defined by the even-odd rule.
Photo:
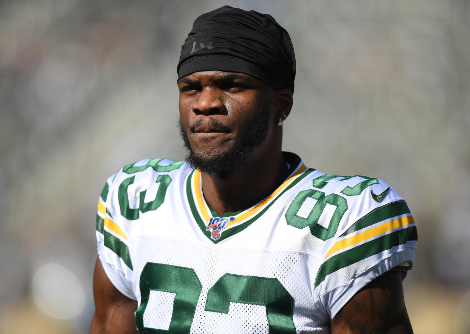
[[[470,333],[468,0],[2,0],[0,333],[87,333],[98,195],[124,165],[184,158],[180,48],[223,4],[291,35],[284,150],[407,199],[415,333]]]

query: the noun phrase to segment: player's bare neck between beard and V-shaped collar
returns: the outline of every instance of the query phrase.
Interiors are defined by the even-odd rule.
[[[247,209],[275,191],[287,176],[287,166],[279,154],[251,160],[230,174],[202,173],[206,202],[219,215]]]

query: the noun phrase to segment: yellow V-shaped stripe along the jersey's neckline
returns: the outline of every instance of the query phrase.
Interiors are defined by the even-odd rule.
[[[255,215],[265,204],[267,204],[269,201],[271,201],[274,197],[276,197],[282,190],[284,190],[285,187],[287,187],[299,174],[303,173],[307,167],[305,164],[302,164],[299,169],[295,173],[293,173],[289,178],[287,178],[281,186],[276,189],[271,195],[263,199],[261,202],[259,202],[257,205],[255,205],[253,208],[239,214],[238,216],[235,217],[235,220],[229,222],[227,226],[231,226],[233,224],[236,224],[246,218],[248,218],[251,215]],[[204,217],[204,220],[206,223],[209,222],[210,215],[209,212],[206,209],[206,206],[204,204],[203,200],[203,195],[201,191],[201,171],[198,169],[194,172],[194,192],[196,196],[196,201],[197,201],[197,206],[199,208],[199,211],[201,212],[202,216]]]

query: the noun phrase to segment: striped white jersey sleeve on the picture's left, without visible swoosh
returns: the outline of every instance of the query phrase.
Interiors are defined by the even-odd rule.
[[[98,199],[96,241],[99,260],[113,285],[125,296],[137,300],[132,290],[133,266],[125,228],[116,215],[117,174],[108,178]]]

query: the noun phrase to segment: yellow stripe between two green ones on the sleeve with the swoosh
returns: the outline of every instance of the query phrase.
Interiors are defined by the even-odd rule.
[[[383,223],[381,225],[378,225],[376,227],[373,227],[367,231],[361,232],[356,234],[355,236],[352,236],[347,239],[339,240],[337,241],[329,250],[327,255],[325,255],[325,258],[328,258],[331,254],[334,252],[337,252],[341,249],[344,249],[346,247],[355,245],[356,243],[359,243],[361,241],[371,239],[373,237],[376,237],[378,235],[381,235],[382,233],[394,230],[398,227],[409,225],[409,224],[414,224],[415,221],[413,220],[413,216],[408,215],[404,216],[401,218],[397,218],[394,220],[387,221],[386,223]]]

